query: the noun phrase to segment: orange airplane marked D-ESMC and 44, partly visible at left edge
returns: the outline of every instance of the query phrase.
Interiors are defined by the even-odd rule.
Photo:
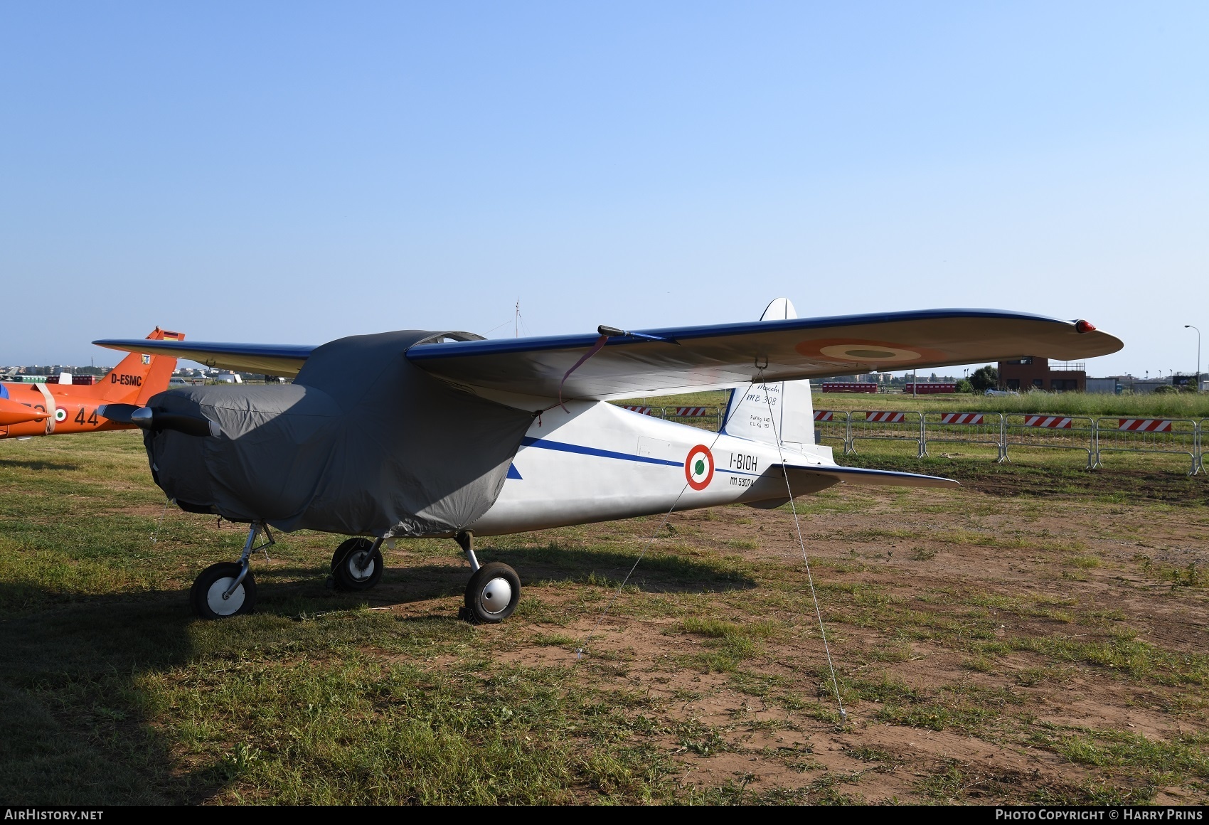
[[[147,340],[183,341],[185,336],[156,327]],[[132,423],[110,421],[98,408],[143,406],[168,388],[175,369],[175,358],[135,352],[93,385],[0,382],[0,439],[133,429]]]

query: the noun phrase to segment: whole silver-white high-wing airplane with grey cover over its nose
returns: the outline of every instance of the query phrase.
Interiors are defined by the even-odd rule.
[[[156,483],[179,507],[250,524],[236,562],[193,582],[198,616],[248,613],[251,555],[270,526],[352,535],[332,556],[347,590],[382,576],[381,546],[452,537],[472,576],[465,616],[502,622],[516,571],[479,565],[473,537],[744,503],[773,508],[834,484],[956,486],[841,467],[816,443],[811,377],[1045,356],[1082,360],[1122,342],[1086,321],[996,310],[797,318],[488,341],[400,331],[318,347],[103,340],[131,352],[293,376],[285,386],[173,388],[109,405],[144,428]],[[721,432],[607,400],[730,390]],[[258,541],[266,542],[258,546]]]

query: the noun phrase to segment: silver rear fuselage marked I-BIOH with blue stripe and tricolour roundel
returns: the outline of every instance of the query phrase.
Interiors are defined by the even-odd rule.
[[[568,402],[534,420],[503,490],[474,524],[493,536],[573,524],[788,498],[782,461],[834,465],[802,450],[713,433],[607,403]]]

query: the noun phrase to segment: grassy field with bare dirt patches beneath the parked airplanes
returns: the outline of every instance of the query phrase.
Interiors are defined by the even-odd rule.
[[[202,623],[243,531],[164,509],[135,433],[0,443],[6,802],[1209,801],[1204,477],[845,462],[964,486],[800,500],[841,719],[786,509],[673,517],[603,619],[658,520],[485,540],[503,625],[456,619],[453,542],[348,596],[311,532]]]

